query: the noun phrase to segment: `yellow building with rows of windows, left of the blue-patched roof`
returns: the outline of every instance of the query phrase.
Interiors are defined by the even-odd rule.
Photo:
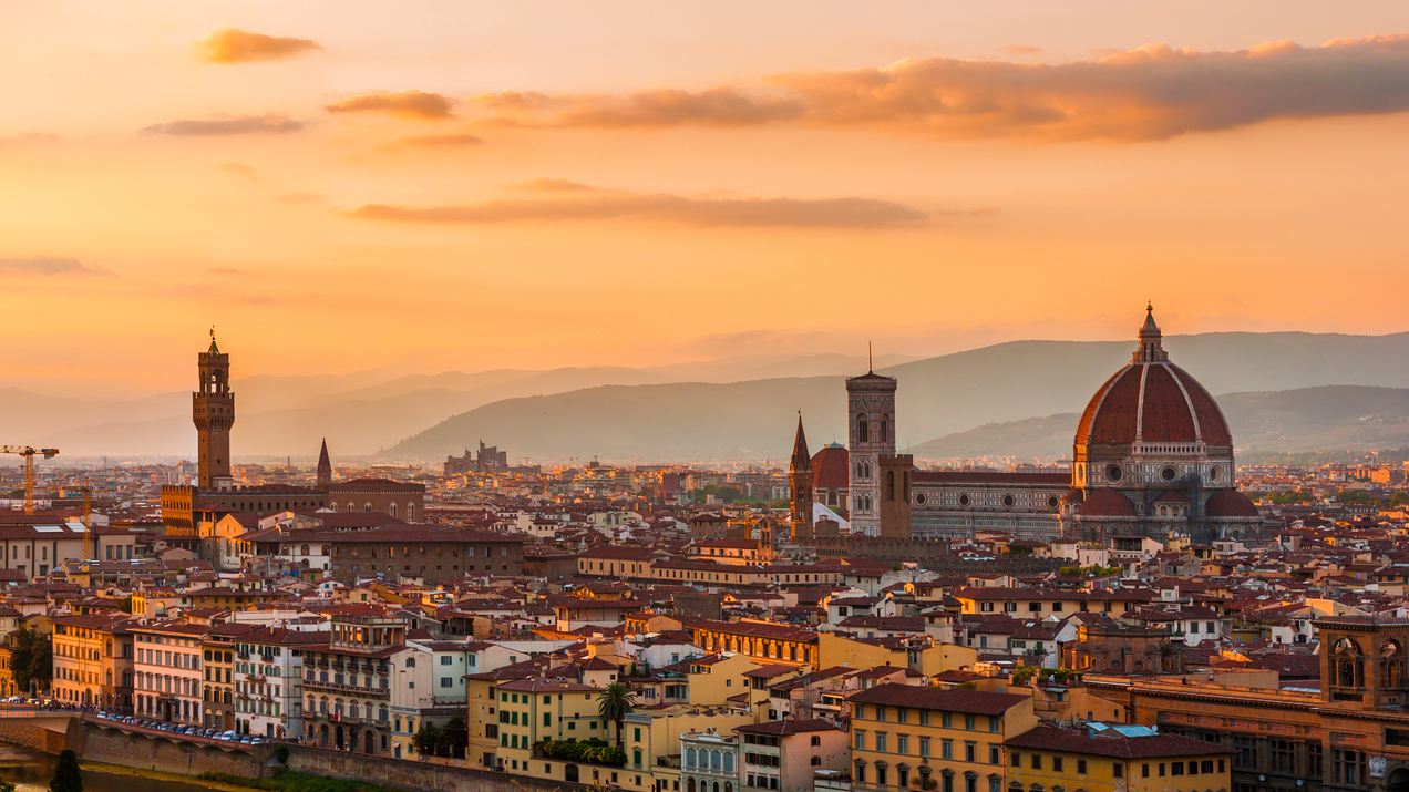
[[[1003,792],[1003,743],[1037,726],[1022,693],[888,683],[847,700],[854,791]]]

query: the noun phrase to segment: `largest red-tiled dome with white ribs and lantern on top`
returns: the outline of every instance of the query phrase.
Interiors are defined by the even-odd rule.
[[[1169,362],[1153,309],[1136,354],[1096,390],[1076,424],[1078,448],[1136,444],[1233,445],[1213,396]]]

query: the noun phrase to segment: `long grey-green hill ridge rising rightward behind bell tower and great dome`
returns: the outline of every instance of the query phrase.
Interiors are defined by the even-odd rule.
[[[1324,385],[1409,388],[1403,365],[1409,334],[1222,333],[1171,337],[1165,347],[1213,393]],[[985,424],[1079,410],[1130,351],[1127,341],[1016,341],[882,372],[900,380],[896,427],[900,445],[907,447]],[[726,386],[602,388],[493,403],[411,435],[385,457],[437,459],[486,437],[535,459],[776,459],[790,448],[797,409],[813,444],[845,440],[843,379],[785,378]],[[1065,430],[1055,419],[1037,421],[1034,431],[1053,440],[1031,448],[1065,454],[1072,426],[1074,420]],[[1003,431],[1013,431],[1014,444],[1027,437]],[[971,441],[979,447],[976,438]],[[985,440],[982,447],[989,445]]]

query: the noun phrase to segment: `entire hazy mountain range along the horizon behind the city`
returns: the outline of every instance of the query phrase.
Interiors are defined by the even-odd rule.
[[[1409,334],[1219,333],[1165,347],[1210,392],[1233,395],[1220,403],[1240,450],[1395,444],[1409,414],[1396,390],[1409,389]],[[1130,351],[1130,341],[1014,341],[876,368],[900,380],[898,437],[916,454],[1062,455],[1074,413]],[[327,437],[334,459],[440,459],[483,438],[514,461],[781,459],[799,410],[814,448],[844,440],[843,378],[861,371],[859,357],[813,355],[245,378],[232,383],[234,447],[245,458],[309,459]],[[0,437],[65,457],[189,458],[189,416],[185,392],[104,402],[0,389]]]

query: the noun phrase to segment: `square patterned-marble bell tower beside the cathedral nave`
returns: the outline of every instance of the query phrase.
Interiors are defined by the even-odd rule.
[[[851,533],[881,530],[881,457],[895,457],[895,378],[868,371],[847,380]]]

